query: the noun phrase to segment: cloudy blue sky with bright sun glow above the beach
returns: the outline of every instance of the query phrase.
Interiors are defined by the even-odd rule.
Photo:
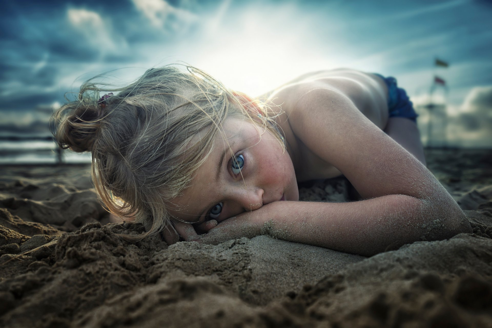
[[[348,67],[397,78],[421,131],[429,117],[419,105],[441,77],[447,89],[434,101],[447,103],[448,142],[492,147],[491,17],[490,0],[4,1],[1,120],[42,121],[39,109],[59,107],[66,92],[107,71],[124,84],[185,62],[255,96],[309,71]]]

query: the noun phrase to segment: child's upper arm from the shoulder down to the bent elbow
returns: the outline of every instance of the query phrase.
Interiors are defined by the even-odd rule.
[[[289,113],[292,132],[364,197],[429,196],[431,172],[371,122],[345,94],[313,88]],[[437,188],[437,187],[436,187]]]

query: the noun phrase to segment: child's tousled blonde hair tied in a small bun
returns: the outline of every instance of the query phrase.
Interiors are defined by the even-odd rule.
[[[183,66],[186,71],[172,65],[149,69],[121,88],[94,82],[103,75],[97,76],[52,117],[61,148],[92,153],[92,179],[108,210],[147,227],[139,236],[122,235],[129,240],[156,234],[169,224],[166,203],[187,188],[217,133],[224,136],[227,117],[274,127],[285,150],[269,106],[259,100],[245,103],[204,71]],[[99,98],[109,91],[114,94]],[[253,108],[261,109],[258,119],[252,118],[257,114]]]

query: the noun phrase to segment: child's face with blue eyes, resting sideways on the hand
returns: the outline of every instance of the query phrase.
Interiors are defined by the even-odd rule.
[[[271,202],[299,200],[292,160],[287,151],[282,154],[269,129],[232,117],[223,129],[236,160],[226,140],[218,136],[190,187],[171,201],[173,216],[187,222],[220,222]]]

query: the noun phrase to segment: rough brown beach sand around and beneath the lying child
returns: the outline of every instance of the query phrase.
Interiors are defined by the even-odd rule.
[[[370,258],[268,236],[129,243],[115,232],[143,228],[109,223],[88,166],[2,166],[0,327],[492,327],[492,152],[427,158],[473,234]],[[353,199],[344,178],[300,194]]]

